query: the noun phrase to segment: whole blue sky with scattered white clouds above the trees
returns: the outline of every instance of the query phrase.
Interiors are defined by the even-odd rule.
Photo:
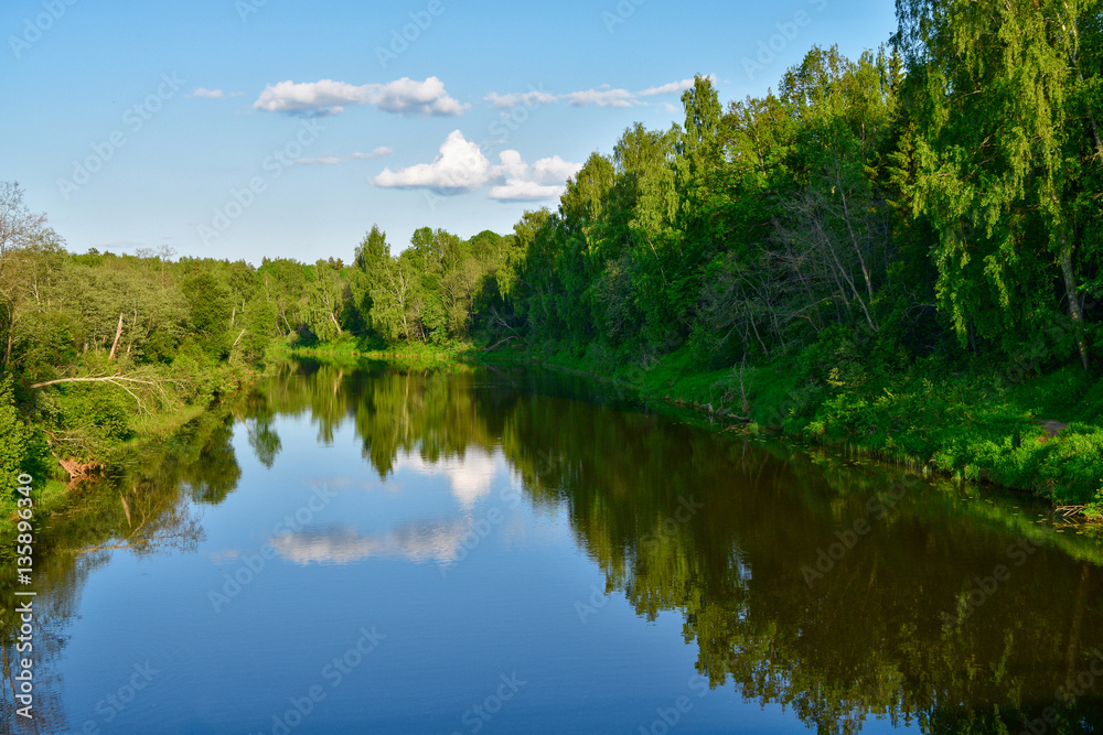
[[[6,0],[0,181],[67,247],[347,260],[373,224],[511,231],[681,88],[857,56],[888,0]]]

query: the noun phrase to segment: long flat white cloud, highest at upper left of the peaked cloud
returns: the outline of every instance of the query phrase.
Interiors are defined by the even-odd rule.
[[[462,115],[470,106],[461,105],[445,90],[445,83],[435,76],[425,82],[409,77],[387,84],[361,86],[346,82],[280,82],[268,85],[253,108],[266,112],[289,115],[339,115],[346,106],[373,105],[386,112],[403,116]]]

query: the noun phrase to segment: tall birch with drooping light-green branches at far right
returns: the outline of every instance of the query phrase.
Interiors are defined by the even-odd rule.
[[[1099,58],[1100,12],[1084,0],[897,3],[920,119],[914,212],[938,233],[936,292],[963,343],[1009,349],[1005,335],[1037,331],[1061,309],[1036,296],[1053,280],[1088,367],[1080,284],[1097,269],[1085,229],[1099,205],[1082,186],[1099,174],[1101,69],[1083,61]]]

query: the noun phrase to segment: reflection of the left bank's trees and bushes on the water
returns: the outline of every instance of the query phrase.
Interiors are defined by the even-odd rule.
[[[105,565],[114,551],[137,556],[193,552],[203,540],[199,514],[189,500],[217,504],[237,485],[237,466],[229,440],[233,418],[211,411],[188,424],[171,441],[133,452],[107,477],[69,489],[69,507],[54,516],[49,527],[35,528],[34,704],[33,718],[18,716],[20,704],[13,677],[19,616],[18,585],[11,574],[0,575],[0,635],[2,635],[2,689],[0,722],[18,733],[67,732],[55,663],[68,640],[65,630],[79,607],[88,576]],[[14,564],[13,544],[0,552],[4,569]],[[25,656],[25,653],[23,653]]]

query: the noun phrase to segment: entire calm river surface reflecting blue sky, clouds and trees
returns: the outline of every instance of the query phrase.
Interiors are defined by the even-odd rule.
[[[81,494],[12,732],[1103,726],[1097,541],[563,377],[288,366]]]

